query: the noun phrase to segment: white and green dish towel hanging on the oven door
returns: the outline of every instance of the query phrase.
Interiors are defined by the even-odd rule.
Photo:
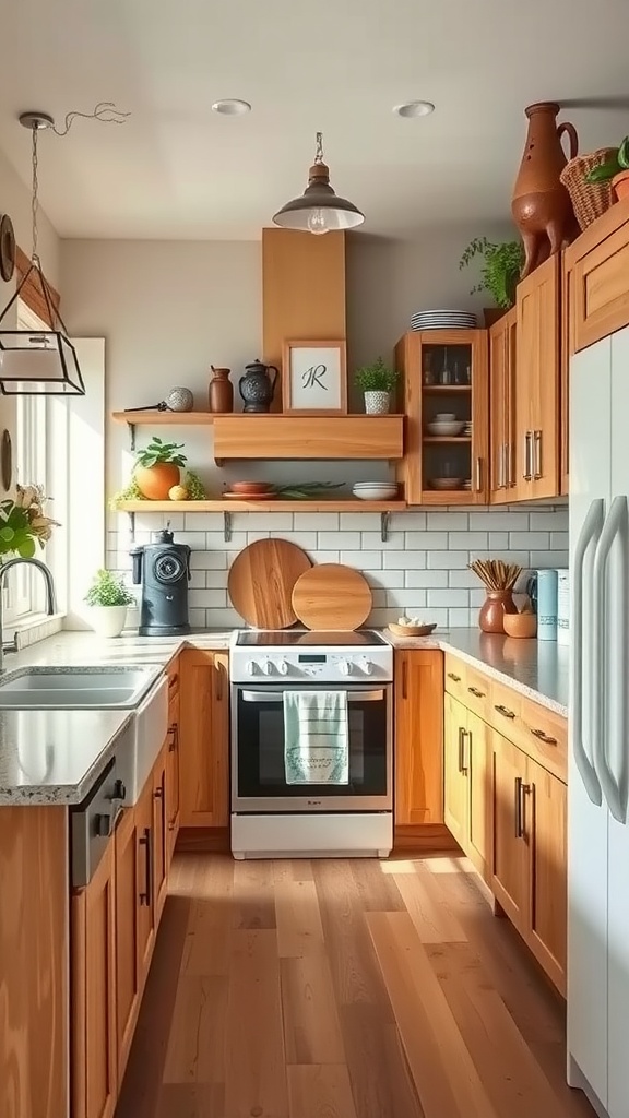
[[[347,691],[284,691],[287,784],[349,784]]]

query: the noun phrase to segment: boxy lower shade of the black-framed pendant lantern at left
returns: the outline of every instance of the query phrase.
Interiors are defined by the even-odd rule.
[[[84,396],[76,350],[59,330],[0,330],[3,396]]]

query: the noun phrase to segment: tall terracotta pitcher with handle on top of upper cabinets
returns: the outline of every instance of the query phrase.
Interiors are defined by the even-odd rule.
[[[570,159],[576,155],[579,140],[573,124],[557,125],[558,112],[558,105],[546,101],[525,108],[528,132],[511,200],[525,250],[523,280],[579,231],[570,195],[560,181],[567,162],[561,138],[564,132],[569,136]]]

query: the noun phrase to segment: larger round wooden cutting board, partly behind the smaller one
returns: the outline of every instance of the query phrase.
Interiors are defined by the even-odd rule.
[[[256,628],[288,628],[297,615],[293,587],[311,567],[310,559],[288,540],[256,540],[236,556],[227,593],[234,609]]]

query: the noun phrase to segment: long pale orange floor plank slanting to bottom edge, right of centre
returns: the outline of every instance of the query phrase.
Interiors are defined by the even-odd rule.
[[[498,1118],[410,915],[367,923],[425,1118]]]

